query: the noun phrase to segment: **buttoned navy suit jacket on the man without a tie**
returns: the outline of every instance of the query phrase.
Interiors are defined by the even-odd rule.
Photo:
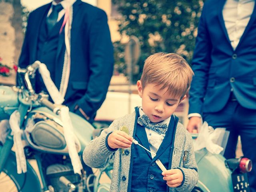
[[[256,109],[256,8],[233,50],[222,16],[225,2],[207,0],[202,10],[192,60],[195,76],[189,113],[222,110],[231,90],[240,105]]]

